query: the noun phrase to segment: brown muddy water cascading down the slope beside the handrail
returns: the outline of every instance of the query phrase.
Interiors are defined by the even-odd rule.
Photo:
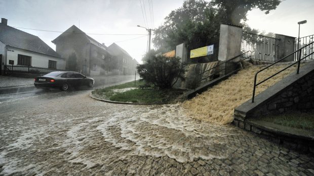
[[[234,108],[252,98],[255,73],[266,67],[265,65],[252,66],[247,62],[243,63],[243,65],[245,66],[244,69],[239,71],[238,74],[229,77],[193,99],[183,102],[187,115],[194,119],[211,123],[231,123],[233,121]],[[287,67],[287,64],[278,64],[270,67],[258,74],[257,82],[264,80],[285,67]],[[255,95],[292,72],[296,72],[296,65],[257,86]]]

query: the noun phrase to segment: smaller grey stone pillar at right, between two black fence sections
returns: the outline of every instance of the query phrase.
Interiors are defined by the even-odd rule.
[[[275,34],[276,38],[279,40],[279,56],[278,58],[281,59],[292,52],[295,49],[295,37],[282,35],[282,34]],[[282,62],[291,62],[294,61],[294,54],[290,55],[289,57],[285,58]]]

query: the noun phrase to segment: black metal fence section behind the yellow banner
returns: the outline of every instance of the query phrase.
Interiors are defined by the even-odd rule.
[[[193,49],[201,48],[204,46],[214,45],[213,54],[190,58],[190,51]],[[218,51],[219,51],[219,37],[210,39],[206,42],[196,42],[188,44],[186,46],[186,58],[187,64],[196,64],[196,63],[209,63],[218,61]]]

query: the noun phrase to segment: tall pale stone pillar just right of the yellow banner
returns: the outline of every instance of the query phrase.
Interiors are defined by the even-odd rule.
[[[219,61],[227,61],[241,54],[242,26],[220,24]]]

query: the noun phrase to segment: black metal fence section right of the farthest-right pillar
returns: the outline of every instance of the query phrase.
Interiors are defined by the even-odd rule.
[[[298,39],[296,38],[295,39],[295,51],[298,50],[299,48],[302,48],[303,46],[313,42],[313,37],[314,35],[309,35],[309,36],[306,36],[306,37],[301,37],[299,42],[298,42]],[[313,54],[311,54],[313,52],[313,43],[312,44],[309,44],[307,45],[306,47],[302,48],[300,50],[301,52],[301,58],[305,57],[304,60],[312,60],[313,59]],[[294,54],[294,61],[298,61],[298,53],[295,53]]]

